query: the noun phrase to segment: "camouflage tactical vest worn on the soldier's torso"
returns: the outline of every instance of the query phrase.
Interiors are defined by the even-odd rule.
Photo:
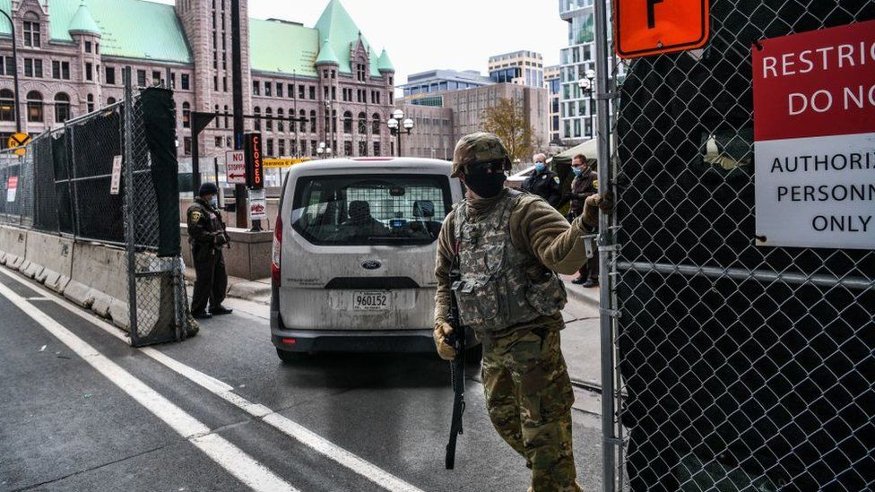
[[[452,289],[462,323],[475,332],[488,335],[555,315],[567,302],[556,273],[510,240],[510,213],[521,195],[505,191],[489,214],[476,221],[468,217],[465,203],[455,209],[461,281]],[[530,278],[527,272],[532,270],[540,278]]]

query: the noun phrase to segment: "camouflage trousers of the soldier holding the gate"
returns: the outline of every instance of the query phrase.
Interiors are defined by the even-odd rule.
[[[533,491],[582,490],[571,447],[574,393],[559,332],[523,331],[484,340],[483,387],[492,425],[532,469]]]

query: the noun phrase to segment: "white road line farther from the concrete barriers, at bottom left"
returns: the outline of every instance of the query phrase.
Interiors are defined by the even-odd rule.
[[[298,492],[288,482],[273,474],[271,470],[264,468],[247,453],[237,446],[230,444],[223,437],[212,434],[199,420],[195,419],[185,410],[180,409],[168,399],[153,390],[115,362],[109,360],[91,345],[74,335],[64,326],[57,323],[49,315],[35,308],[26,298],[15,294],[13,290],[0,284],[0,296],[7,298],[14,306],[17,306],[25,315],[40,324],[48,332],[64,343],[76,355],[81,357],[91,367],[97,369],[110,382],[116,384],[122,391],[135,401],[139,402],[146,410],[152,412],[155,417],[177,431],[180,436],[186,438],[198,449],[206,453],[212,461],[217,462],[222,468],[228,470],[231,475],[246,484],[249,488],[257,491],[274,492],[287,491]]]

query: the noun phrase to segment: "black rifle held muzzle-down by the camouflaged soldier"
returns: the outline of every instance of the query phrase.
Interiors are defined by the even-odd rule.
[[[459,317],[459,305],[455,292],[463,289],[462,273],[459,271],[458,246],[450,268],[450,285],[453,292],[450,295],[450,310],[446,322],[453,327],[453,332],[446,337],[446,342],[455,349],[455,358],[450,361],[450,377],[453,380],[453,420],[450,424],[450,441],[446,445],[444,464],[446,470],[455,467],[455,439],[463,433],[462,414],[464,413],[464,369],[465,369],[465,333],[462,319]]]

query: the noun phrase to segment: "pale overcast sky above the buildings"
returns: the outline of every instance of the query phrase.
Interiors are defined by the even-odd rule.
[[[162,0],[172,4],[172,0]],[[567,23],[556,0],[341,0],[377,50],[386,47],[403,83],[434,68],[486,73],[490,55],[529,49],[559,63]],[[249,15],[313,27],[328,0],[249,0]],[[282,47],[277,47],[282,49]]]

